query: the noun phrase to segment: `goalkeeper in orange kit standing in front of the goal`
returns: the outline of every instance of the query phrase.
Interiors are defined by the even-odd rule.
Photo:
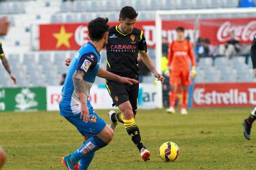
[[[188,85],[189,85],[189,75],[192,75],[192,78],[196,75],[196,62],[193,52],[192,43],[184,38],[184,28],[178,27],[177,31],[177,40],[172,41],[169,45],[168,53],[168,64],[170,68],[170,85],[171,92],[169,96],[170,108],[166,111],[169,113],[175,113],[174,105],[176,99],[176,91],[179,84],[181,84],[182,91],[182,105],[181,105],[181,114],[188,114],[186,110],[187,105],[187,96],[188,96]],[[190,58],[192,63],[192,70],[189,71],[189,62]]]

